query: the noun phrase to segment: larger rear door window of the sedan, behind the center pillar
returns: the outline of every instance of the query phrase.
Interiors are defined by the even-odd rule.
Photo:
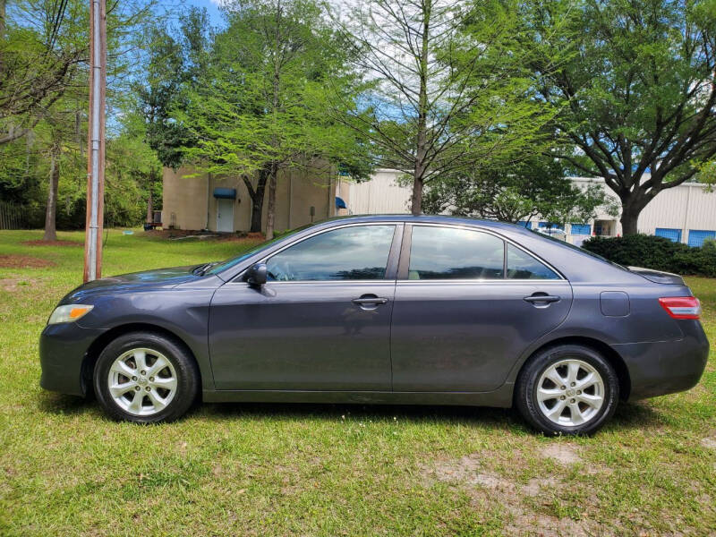
[[[504,256],[505,243],[491,234],[413,226],[408,279],[497,279]]]

